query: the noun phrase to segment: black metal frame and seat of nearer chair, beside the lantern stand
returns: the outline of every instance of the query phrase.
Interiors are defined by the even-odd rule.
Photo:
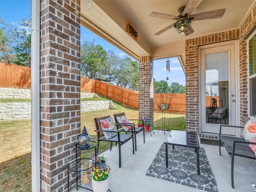
[[[132,134],[120,134],[120,132],[122,132],[122,131],[119,131],[119,130],[102,130],[100,120],[106,119],[109,117],[110,116],[94,118],[94,123],[95,123],[95,127],[96,127],[95,131],[97,132],[97,154],[99,152],[100,141],[111,142],[110,151],[112,150],[112,143],[113,142],[118,143],[119,167],[121,167],[121,145],[126,143],[128,140],[132,139],[132,152],[134,154],[134,136],[133,136],[134,134],[133,134],[133,130],[132,130]],[[116,134],[112,138],[106,139],[103,132],[114,132]]]

